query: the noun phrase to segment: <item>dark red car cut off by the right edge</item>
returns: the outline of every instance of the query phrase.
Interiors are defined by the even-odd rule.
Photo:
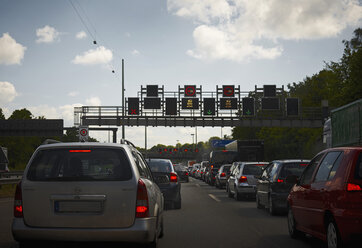
[[[342,247],[362,237],[362,147],[331,148],[317,154],[288,196],[288,229]],[[361,245],[361,243],[359,243]],[[354,247],[354,246],[353,246]]]

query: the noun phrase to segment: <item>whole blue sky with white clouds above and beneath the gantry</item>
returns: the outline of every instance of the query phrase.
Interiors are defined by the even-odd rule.
[[[122,59],[126,98],[155,84],[286,87],[338,61],[361,23],[360,0],[0,0],[0,108],[73,126],[76,106],[122,105]],[[147,146],[192,134],[148,127]],[[231,128],[197,129],[197,141],[223,135]],[[126,138],[144,147],[145,128]]]

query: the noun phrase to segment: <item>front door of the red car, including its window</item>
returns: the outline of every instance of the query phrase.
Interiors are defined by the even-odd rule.
[[[311,212],[309,210],[310,203],[308,203],[307,199],[309,198],[308,195],[310,194],[315,170],[323,156],[324,153],[320,153],[312,159],[293,189],[292,211],[294,213],[294,218],[298,227],[307,232],[310,232],[310,223],[312,222]]]

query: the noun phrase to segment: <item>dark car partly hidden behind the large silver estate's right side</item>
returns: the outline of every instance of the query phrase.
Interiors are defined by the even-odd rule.
[[[150,158],[147,159],[147,162],[153,177],[163,193],[165,206],[167,208],[180,209],[181,183],[171,161],[169,159]],[[162,180],[164,176],[167,176],[168,180]],[[161,178],[161,180],[158,178]]]

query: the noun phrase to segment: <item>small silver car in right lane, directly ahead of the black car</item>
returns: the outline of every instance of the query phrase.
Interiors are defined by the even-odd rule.
[[[230,172],[228,196],[240,201],[244,196],[255,198],[256,183],[267,162],[238,162]]]

